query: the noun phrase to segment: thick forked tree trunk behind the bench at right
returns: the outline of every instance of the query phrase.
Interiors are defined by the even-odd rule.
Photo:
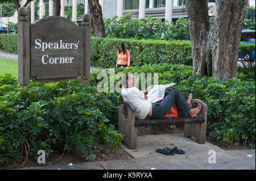
[[[248,0],[216,0],[216,16],[209,26],[208,1],[186,0],[193,56],[193,74],[218,81],[237,77],[242,23]]]

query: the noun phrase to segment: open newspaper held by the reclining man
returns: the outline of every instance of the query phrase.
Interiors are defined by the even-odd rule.
[[[176,83],[166,84],[166,85],[155,85],[150,91],[147,93],[148,100],[152,103],[156,103],[159,100],[164,98],[164,92],[166,89],[171,89],[175,87]]]

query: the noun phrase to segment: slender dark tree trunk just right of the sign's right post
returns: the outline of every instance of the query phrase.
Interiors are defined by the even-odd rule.
[[[90,16],[92,17],[92,30],[95,37],[106,37],[102,9],[98,0],[88,0]]]

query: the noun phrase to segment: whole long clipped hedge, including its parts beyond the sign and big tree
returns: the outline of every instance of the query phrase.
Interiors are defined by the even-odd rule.
[[[117,62],[117,47],[125,42],[130,50],[132,66],[144,64],[185,64],[192,65],[190,41],[185,40],[135,40],[92,37],[91,65],[102,68],[114,68]],[[17,35],[0,35],[0,48],[7,52],[18,52]],[[255,62],[255,44],[240,44],[239,56],[243,61]],[[249,55],[246,56],[246,55]],[[254,64],[246,66],[253,69]],[[255,68],[255,66],[254,66]]]

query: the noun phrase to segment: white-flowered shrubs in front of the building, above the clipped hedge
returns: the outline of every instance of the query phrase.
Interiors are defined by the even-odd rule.
[[[104,19],[107,37],[121,39],[189,40],[188,20],[180,18],[176,24],[161,19],[132,19],[131,13],[120,19]]]

